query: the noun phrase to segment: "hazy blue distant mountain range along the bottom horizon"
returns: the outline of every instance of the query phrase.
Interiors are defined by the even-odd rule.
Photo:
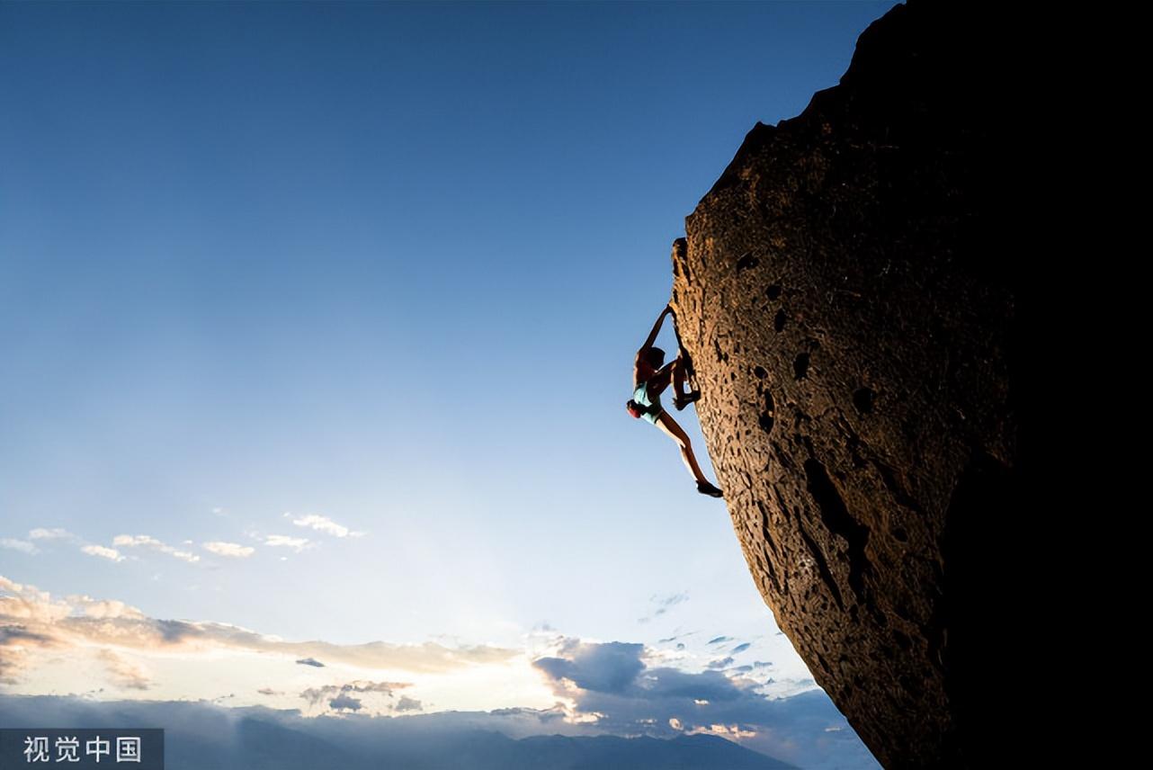
[[[785,770],[716,735],[532,735],[210,703],[0,696],[5,727],[164,727],[167,770]]]

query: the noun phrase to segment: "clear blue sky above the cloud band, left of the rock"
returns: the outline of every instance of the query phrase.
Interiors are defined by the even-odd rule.
[[[0,575],[812,688],[623,403],[684,218],[892,5],[0,5]]]

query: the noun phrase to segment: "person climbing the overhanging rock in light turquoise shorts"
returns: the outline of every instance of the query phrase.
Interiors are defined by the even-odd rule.
[[[680,459],[685,461],[688,473],[693,474],[693,478],[696,480],[698,492],[722,497],[721,490],[709,483],[709,480],[701,473],[701,467],[696,465],[696,458],[693,455],[693,447],[688,443],[685,430],[677,424],[672,415],[661,407],[661,392],[669,386],[670,382],[673,392],[672,405],[677,407],[677,412],[701,398],[700,391],[684,392],[688,369],[684,350],[678,350],[676,361],[665,365],[664,350],[653,345],[661,331],[661,324],[664,323],[664,317],[670,315],[673,316],[673,324],[677,323],[672,307],[665,305],[653,325],[648,339],[645,340],[645,345],[636,352],[636,361],[633,364],[633,398],[625,407],[631,415],[647,420],[677,443],[677,446],[680,447]]]

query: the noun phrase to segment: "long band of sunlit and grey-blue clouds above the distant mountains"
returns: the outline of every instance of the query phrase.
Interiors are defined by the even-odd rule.
[[[292,642],[231,624],[152,618],[116,599],[55,597],[0,576],[8,695],[84,682],[85,696],[99,701],[226,702],[308,717],[420,714],[519,735],[706,733],[805,767],[826,750],[819,740],[862,750],[812,681],[808,692],[767,697],[763,682],[704,669],[708,657],[678,662],[694,672],[642,643],[551,631],[526,634],[521,649]]]

